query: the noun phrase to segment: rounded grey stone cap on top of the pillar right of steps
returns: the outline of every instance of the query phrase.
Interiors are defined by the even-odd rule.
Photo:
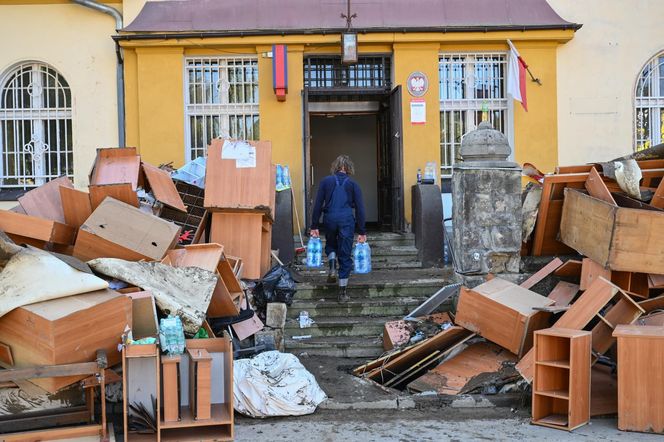
[[[467,133],[461,142],[461,157],[464,165],[485,167],[518,167],[507,161],[512,153],[507,137],[483,121],[472,132]]]

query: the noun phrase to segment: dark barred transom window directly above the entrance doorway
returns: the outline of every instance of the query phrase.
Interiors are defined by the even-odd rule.
[[[338,55],[316,55],[304,59],[304,85],[319,90],[389,90],[389,55],[360,56],[352,65]]]

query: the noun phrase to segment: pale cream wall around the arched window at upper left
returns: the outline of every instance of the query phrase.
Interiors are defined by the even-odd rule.
[[[87,186],[95,149],[118,144],[115,21],[79,5],[46,3],[0,5],[0,76],[36,60],[65,77],[73,99],[74,181]]]

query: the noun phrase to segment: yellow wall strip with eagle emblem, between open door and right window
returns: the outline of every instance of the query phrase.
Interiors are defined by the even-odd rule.
[[[439,49],[437,43],[394,44],[394,84],[402,85],[404,213],[407,223],[412,219],[411,186],[417,183],[417,169],[424,170],[427,161],[435,161],[440,166]],[[429,90],[422,97],[426,103],[425,124],[410,122],[410,100],[413,97],[407,91],[406,82],[414,71],[421,71],[429,78]]]

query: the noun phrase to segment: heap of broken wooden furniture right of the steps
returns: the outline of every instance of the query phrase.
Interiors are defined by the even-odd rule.
[[[488,275],[461,287],[453,324],[419,342],[415,315],[386,324],[388,353],[355,374],[412,393],[486,394],[527,382],[535,424],[571,430],[617,413],[622,430],[664,433],[653,405],[664,403],[664,381],[642,375],[664,369],[663,178],[664,160],[652,158],[543,176],[524,198],[532,239],[524,235],[522,253],[564,261],[520,285]],[[442,290],[419,313],[454,293]]]

